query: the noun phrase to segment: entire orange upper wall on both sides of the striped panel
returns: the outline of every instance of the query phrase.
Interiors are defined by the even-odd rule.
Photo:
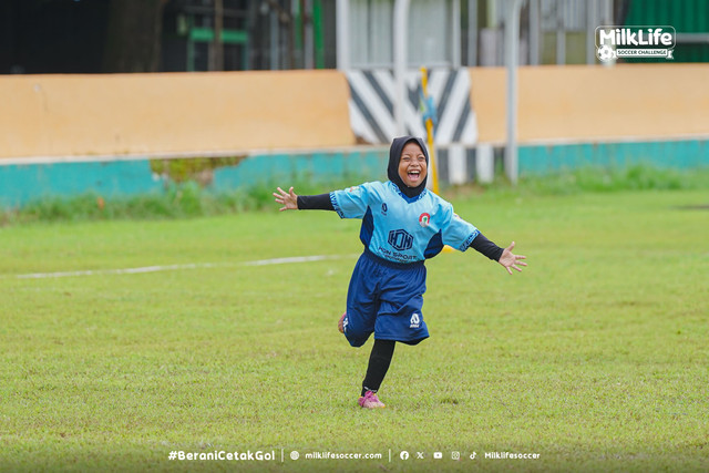
[[[481,142],[505,140],[505,70],[473,68]],[[709,136],[709,64],[520,69],[518,138]],[[338,71],[0,76],[0,158],[354,145]]]

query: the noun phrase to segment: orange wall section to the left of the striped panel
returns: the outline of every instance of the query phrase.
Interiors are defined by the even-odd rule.
[[[0,78],[0,157],[354,144],[336,71]]]

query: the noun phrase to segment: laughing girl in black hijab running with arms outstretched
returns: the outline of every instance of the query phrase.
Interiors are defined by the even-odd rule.
[[[296,195],[290,187],[274,193],[280,210],[335,210],[340,218],[361,218],[360,256],[347,291],[347,311],[338,328],[352,347],[374,333],[359,405],[383,408],[377,392],[389,370],[395,343],[417,345],[429,337],[423,321],[424,261],[450,245],[472,247],[521,271],[525,256],[501,248],[453,213],[453,206],[425,188],[429,154],[421,138],[394,138],[389,150],[389,181],[364,183],[347,191]]]

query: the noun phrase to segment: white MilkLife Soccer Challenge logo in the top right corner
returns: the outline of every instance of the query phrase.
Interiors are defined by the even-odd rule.
[[[598,27],[596,55],[602,62],[621,58],[672,60],[676,39],[674,27]]]

